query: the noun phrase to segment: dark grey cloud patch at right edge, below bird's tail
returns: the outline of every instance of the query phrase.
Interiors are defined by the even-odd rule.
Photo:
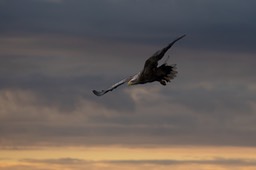
[[[214,113],[215,116],[254,113],[251,103],[255,101],[255,95],[246,86],[219,84],[212,89],[181,88],[170,91],[169,95],[172,95],[173,102],[183,104],[198,113]]]

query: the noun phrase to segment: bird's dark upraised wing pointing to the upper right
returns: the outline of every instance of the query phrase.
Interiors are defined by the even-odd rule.
[[[164,54],[173,46],[173,44],[175,44],[177,41],[179,41],[180,39],[182,39],[185,36],[186,35],[182,35],[182,36],[176,38],[170,44],[168,44],[166,47],[164,47],[161,50],[158,50],[151,57],[149,57],[144,64],[142,74],[143,75],[151,74],[152,70],[157,67],[158,61],[163,58]]]

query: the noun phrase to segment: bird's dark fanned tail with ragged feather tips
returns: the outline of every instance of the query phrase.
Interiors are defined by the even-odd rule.
[[[159,82],[162,85],[166,85],[167,82],[170,82],[177,75],[177,67],[176,64],[167,65],[166,63],[158,67],[158,76]]]

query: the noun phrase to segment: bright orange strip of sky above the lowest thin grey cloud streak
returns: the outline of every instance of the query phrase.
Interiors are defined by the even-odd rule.
[[[222,158],[256,159],[256,148],[253,147],[49,147],[38,149],[12,150],[3,149],[0,159],[13,160],[77,158],[90,161],[107,160],[200,160]]]

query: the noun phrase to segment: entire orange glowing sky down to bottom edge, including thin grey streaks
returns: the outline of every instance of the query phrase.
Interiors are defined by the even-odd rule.
[[[167,170],[228,170],[232,164],[224,161],[254,160],[254,164],[237,165],[237,170],[256,168],[256,148],[253,147],[48,147],[38,149],[8,150],[0,154],[0,170],[27,167],[37,170],[49,167],[58,169],[160,169]],[[66,161],[66,162],[65,162]],[[168,163],[170,161],[170,163]],[[215,161],[217,162],[215,165]],[[167,162],[167,163],[165,163]],[[54,166],[53,166],[54,165]],[[136,166],[136,168],[135,168]],[[30,167],[30,169],[28,168]],[[64,168],[65,167],[65,168]],[[157,168],[156,168],[157,167]],[[233,167],[234,168],[234,167]],[[18,168],[19,169],[19,168]],[[22,168],[21,168],[22,169]],[[47,169],[47,168],[46,168]],[[48,169],[47,169],[48,170]]]

